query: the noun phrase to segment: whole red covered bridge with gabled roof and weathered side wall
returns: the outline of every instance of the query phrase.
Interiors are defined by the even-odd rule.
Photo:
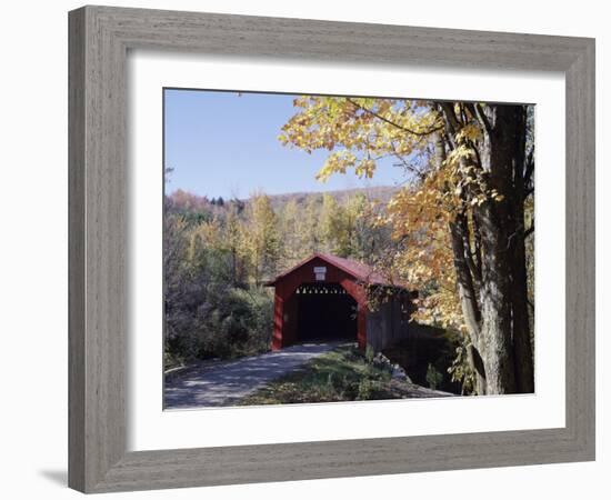
[[[272,349],[312,340],[353,340],[379,351],[408,334],[410,293],[369,266],[314,253],[267,283],[276,287]],[[368,292],[383,290],[375,310]]]

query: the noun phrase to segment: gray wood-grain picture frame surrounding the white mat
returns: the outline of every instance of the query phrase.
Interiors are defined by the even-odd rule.
[[[594,40],[84,7],[69,14],[69,484],[84,492],[594,459]],[[220,56],[562,71],[567,426],[126,451],[126,57]]]

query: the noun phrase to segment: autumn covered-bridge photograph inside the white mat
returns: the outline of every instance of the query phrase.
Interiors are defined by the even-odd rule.
[[[534,393],[534,104],[162,99],[164,410]]]

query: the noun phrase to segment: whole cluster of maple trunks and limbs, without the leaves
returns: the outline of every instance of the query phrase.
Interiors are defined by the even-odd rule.
[[[455,134],[461,122],[454,107],[450,103],[440,107],[450,132]],[[484,129],[477,146],[477,161],[489,190],[489,199],[473,209],[479,246],[475,262],[464,216],[459,214],[450,227],[459,296],[473,344],[469,362],[474,367],[481,356],[483,369],[477,370],[479,393],[532,392],[523,176],[515,176],[524,160],[523,107],[473,104],[470,110]],[[515,184],[520,179],[522,191]],[[500,197],[491,199],[491,190]]]

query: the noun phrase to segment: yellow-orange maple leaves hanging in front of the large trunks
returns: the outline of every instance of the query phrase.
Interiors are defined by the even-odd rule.
[[[473,208],[501,200],[475,167],[474,142],[482,137],[477,120],[464,117],[452,134],[453,148],[435,161],[435,133],[448,133],[439,110],[429,102],[400,99],[327,98],[294,100],[298,112],[282,128],[282,143],[308,152],[330,153],[317,178],[353,171],[371,178],[377,161],[392,157],[405,169],[405,186],[388,202],[378,226],[388,226],[401,251],[388,259],[389,276],[400,276],[420,291],[414,319],[464,330],[448,231],[457,214],[471,220]],[[390,262],[390,263],[389,263]]]

